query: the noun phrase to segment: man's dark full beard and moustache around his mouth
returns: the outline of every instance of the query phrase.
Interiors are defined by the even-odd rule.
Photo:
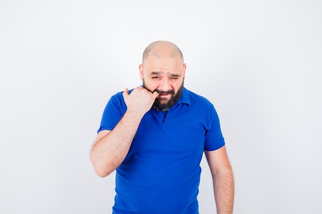
[[[143,80],[143,87],[148,91],[151,91],[144,84],[144,80]],[[157,111],[168,111],[181,98],[183,87],[184,87],[184,81],[182,81],[182,84],[178,88],[176,93],[174,92],[174,90],[161,91],[161,90],[155,89],[154,91],[157,91],[159,94],[171,94],[171,96],[170,96],[170,99],[157,97],[152,105],[152,108]],[[153,93],[154,91],[151,91],[151,92]]]

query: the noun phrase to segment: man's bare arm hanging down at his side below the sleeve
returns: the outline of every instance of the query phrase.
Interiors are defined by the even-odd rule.
[[[225,146],[204,151],[211,171],[214,199],[218,214],[231,214],[234,205],[234,176]]]

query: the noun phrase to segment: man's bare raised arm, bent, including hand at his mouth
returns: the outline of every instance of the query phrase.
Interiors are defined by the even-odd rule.
[[[91,160],[98,176],[108,176],[123,162],[142,117],[150,110],[157,95],[157,92],[151,93],[142,87],[135,88],[131,94],[128,89],[123,92],[126,113],[112,131],[98,133],[91,150]]]

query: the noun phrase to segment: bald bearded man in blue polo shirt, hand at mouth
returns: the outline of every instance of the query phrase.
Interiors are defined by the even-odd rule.
[[[232,213],[234,179],[218,115],[184,87],[186,64],[173,43],[144,51],[139,86],[105,107],[91,159],[100,177],[116,169],[113,213],[199,213],[205,152],[219,214]]]

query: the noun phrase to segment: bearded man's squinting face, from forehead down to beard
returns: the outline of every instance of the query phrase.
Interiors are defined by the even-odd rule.
[[[180,99],[186,73],[180,56],[148,56],[139,70],[144,88],[159,93],[154,109],[167,111]]]

